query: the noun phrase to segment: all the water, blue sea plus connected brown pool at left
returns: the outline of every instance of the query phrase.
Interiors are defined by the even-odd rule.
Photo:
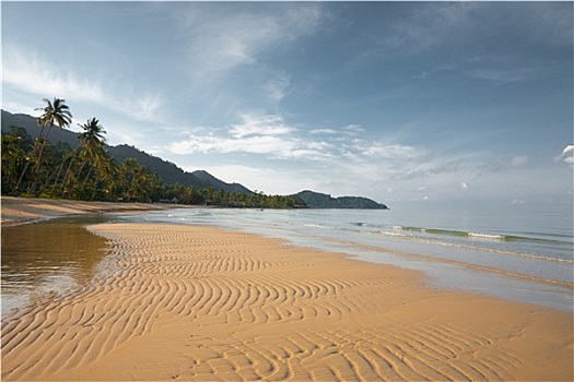
[[[242,230],[283,239],[285,246],[417,270],[430,288],[573,311],[572,206],[405,203],[390,210],[172,208],[67,217],[3,229],[2,317],[46,293],[69,293],[106,272],[105,242],[78,230],[102,220]],[[62,242],[69,243],[65,251]]]

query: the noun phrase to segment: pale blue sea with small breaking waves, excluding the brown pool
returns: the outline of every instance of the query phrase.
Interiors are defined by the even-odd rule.
[[[571,208],[176,208],[122,218],[244,230],[419,270],[433,288],[573,310]]]

